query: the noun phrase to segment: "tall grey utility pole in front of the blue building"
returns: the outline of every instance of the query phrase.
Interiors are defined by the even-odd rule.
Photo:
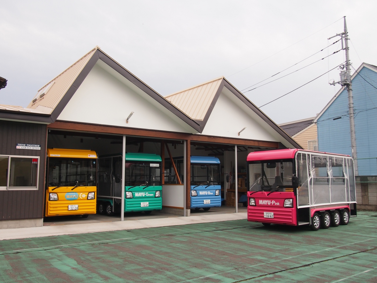
[[[356,135],[355,135],[355,119],[354,119],[354,109],[353,109],[353,97],[352,97],[352,83],[351,83],[351,60],[349,60],[349,47],[348,47],[348,31],[347,31],[347,24],[346,24],[346,16],[344,18],[344,31],[340,34],[334,35],[328,39],[333,37],[340,36],[342,37],[342,49],[346,53],[346,62],[340,68],[340,81],[330,83],[330,85],[335,85],[339,83],[340,85],[344,86],[348,92],[348,112],[349,112],[349,129],[351,132],[351,149],[352,149],[352,158],[354,159],[354,166],[355,166],[355,176],[359,175],[359,170],[357,168],[357,151],[356,151]],[[343,46],[344,40],[344,46]]]

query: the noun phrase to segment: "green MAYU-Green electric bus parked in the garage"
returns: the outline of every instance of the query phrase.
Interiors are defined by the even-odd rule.
[[[157,154],[126,153],[124,212],[162,209],[162,160]],[[112,216],[121,211],[122,155],[98,159],[97,211]]]

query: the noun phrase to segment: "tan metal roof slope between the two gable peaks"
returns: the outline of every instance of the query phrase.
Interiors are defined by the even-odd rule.
[[[215,78],[165,98],[179,110],[195,120],[203,120],[224,77]]]

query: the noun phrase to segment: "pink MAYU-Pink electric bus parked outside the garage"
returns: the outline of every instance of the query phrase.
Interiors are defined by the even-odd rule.
[[[356,216],[354,163],[349,155],[301,149],[247,157],[247,220],[263,225],[347,225]]]

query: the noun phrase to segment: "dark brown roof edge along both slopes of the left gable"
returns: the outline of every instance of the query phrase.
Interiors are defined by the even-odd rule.
[[[86,63],[80,74],[77,76],[75,81],[72,83],[68,91],[63,95],[58,105],[55,107],[55,109],[51,113],[51,119],[53,122],[59,117],[60,113],[63,111],[64,107],[67,105],[69,100],[72,98],[72,96],[75,94],[77,89],[80,87],[81,83],[83,83],[84,79],[87,77],[89,72],[92,70],[93,66],[97,63],[98,59],[102,60],[104,63],[109,65],[111,68],[113,68],[115,71],[123,75],[123,77],[127,78],[130,82],[132,82],[134,85],[136,85],[138,88],[140,88],[142,91],[146,92],[150,97],[155,99],[157,102],[159,102],[162,106],[165,106],[170,112],[178,116],[181,120],[183,120],[185,123],[187,123],[189,126],[191,126],[193,129],[195,129],[198,132],[201,132],[200,125],[192,120],[190,117],[188,117],[186,114],[184,114],[182,111],[180,111],[178,108],[176,108],[172,103],[170,103],[168,100],[166,100],[162,95],[158,94],[156,91],[154,91],[152,88],[150,88],[148,85],[146,85],[144,82],[142,82],[139,78],[137,78],[135,75],[133,75],[131,72],[129,72],[127,69],[125,69],[123,66],[121,66],[119,63],[117,63],[115,60],[113,60],[109,55],[101,51],[100,49],[97,49],[92,55],[92,57],[89,59],[89,61]]]

